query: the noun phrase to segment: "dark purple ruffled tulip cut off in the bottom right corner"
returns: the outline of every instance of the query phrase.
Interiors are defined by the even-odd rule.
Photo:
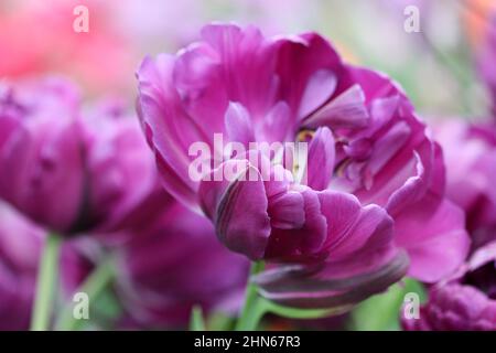
[[[459,276],[432,287],[419,319],[401,322],[410,331],[496,331],[496,242],[477,249]]]

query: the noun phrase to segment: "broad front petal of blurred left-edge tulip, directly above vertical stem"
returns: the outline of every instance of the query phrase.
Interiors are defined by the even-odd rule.
[[[33,119],[0,154],[0,194],[35,222],[65,234],[83,207],[82,135],[76,121]],[[51,200],[51,202],[46,202]]]

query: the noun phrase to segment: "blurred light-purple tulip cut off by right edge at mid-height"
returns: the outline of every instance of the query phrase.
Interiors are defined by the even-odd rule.
[[[496,239],[496,124],[451,121],[436,136],[445,150],[446,195],[465,211],[477,248]]]

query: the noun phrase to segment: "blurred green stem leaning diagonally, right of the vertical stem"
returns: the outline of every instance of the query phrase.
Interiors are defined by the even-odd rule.
[[[90,301],[95,300],[114,278],[114,257],[108,256],[86,278],[84,284],[77,289],[77,292],[86,293]],[[77,329],[82,320],[75,318],[73,307],[74,303],[72,301],[65,306],[61,317],[57,320],[57,330],[73,331]]]

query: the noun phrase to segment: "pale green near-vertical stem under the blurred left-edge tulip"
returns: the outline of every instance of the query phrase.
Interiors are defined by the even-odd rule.
[[[46,236],[36,278],[36,293],[31,315],[31,330],[45,331],[50,319],[57,285],[58,253],[62,239],[57,234]]]

